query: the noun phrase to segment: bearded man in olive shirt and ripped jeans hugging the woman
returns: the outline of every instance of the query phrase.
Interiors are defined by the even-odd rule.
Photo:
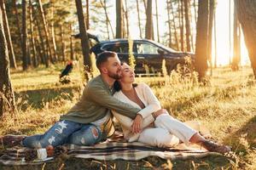
[[[29,137],[5,136],[2,144],[21,143],[29,148],[55,147],[61,144],[91,145],[107,139],[114,132],[110,110],[134,119],[140,110],[113,98],[113,83],[121,77],[117,54],[103,52],[96,59],[101,75],[93,78],[84,88],[79,102],[61,116],[59,122],[44,134]],[[138,125],[135,128],[140,128]]]

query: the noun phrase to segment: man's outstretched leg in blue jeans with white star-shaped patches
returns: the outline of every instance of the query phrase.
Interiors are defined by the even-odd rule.
[[[45,148],[48,145],[57,146],[64,144],[67,137],[82,127],[80,123],[70,121],[56,122],[44,134],[26,137],[22,144],[29,148]]]

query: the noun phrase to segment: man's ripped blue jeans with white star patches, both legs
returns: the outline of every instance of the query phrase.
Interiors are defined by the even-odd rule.
[[[61,144],[92,145],[100,142],[102,131],[93,124],[60,121],[44,134],[36,134],[23,139],[22,144],[29,148],[45,148]]]

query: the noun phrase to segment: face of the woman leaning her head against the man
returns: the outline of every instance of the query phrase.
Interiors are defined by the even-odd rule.
[[[135,81],[135,73],[134,70],[124,63],[122,65],[122,78],[120,79],[120,82],[123,83],[132,83]]]

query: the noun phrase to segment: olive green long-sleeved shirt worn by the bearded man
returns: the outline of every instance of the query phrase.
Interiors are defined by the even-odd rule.
[[[61,120],[79,123],[96,122],[106,116],[110,110],[134,119],[140,109],[115,99],[113,94],[113,88],[110,88],[101,76],[95,77],[87,83],[79,102],[66,115],[61,116]]]

